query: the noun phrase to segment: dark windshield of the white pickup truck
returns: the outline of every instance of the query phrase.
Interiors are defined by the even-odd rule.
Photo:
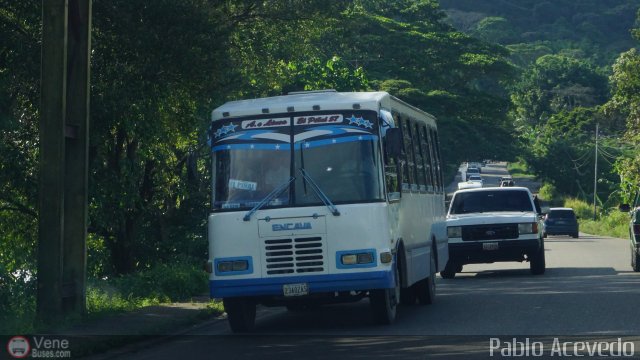
[[[450,214],[497,211],[535,210],[526,191],[475,191],[456,194],[451,203]]]

